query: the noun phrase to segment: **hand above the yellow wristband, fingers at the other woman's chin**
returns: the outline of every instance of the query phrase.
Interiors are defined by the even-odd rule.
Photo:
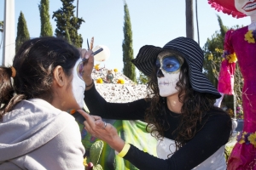
[[[107,142],[113,150],[120,152],[125,146],[125,141],[121,139],[115,127],[102,121],[100,116],[90,116],[83,110],[78,110],[84,116],[84,128],[92,136]]]

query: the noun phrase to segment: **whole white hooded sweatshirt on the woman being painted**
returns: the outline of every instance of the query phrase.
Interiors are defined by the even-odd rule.
[[[0,122],[0,169],[83,169],[73,116],[43,99],[22,100]]]

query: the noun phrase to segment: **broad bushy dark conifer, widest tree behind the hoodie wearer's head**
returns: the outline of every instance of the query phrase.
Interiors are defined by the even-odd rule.
[[[83,38],[78,30],[84,20],[74,16],[74,8],[76,7],[73,6],[73,1],[61,0],[62,8],[53,12],[52,18],[55,18],[56,21],[55,36],[67,39],[67,41],[69,41],[69,36],[70,42],[80,48],[83,44]]]

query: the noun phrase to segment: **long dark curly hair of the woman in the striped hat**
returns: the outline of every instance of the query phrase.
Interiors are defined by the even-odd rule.
[[[145,121],[148,122],[148,132],[152,134],[156,132],[156,138],[162,139],[164,132],[169,128],[168,120],[166,120],[166,98],[159,94],[158,82],[156,77],[156,67],[154,65],[148,82],[148,97],[151,96],[151,105],[145,114]],[[212,109],[215,96],[212,94],[202,94],[192,89],[189,82],[189,66],[184,60],[181,66],[181,74],[177,82],[178,99],[183,103],[181,109],[181,122],[177,129],[172,133],[176,134],[176,149],[181,148],[189,139],[195,136],[198,129],[196,127],[201,124],[201,119],[207,111]],[[164,126],[167,125],[167,126]]]

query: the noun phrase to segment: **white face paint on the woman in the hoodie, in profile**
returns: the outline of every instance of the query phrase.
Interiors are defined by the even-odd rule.
[[[85,83],[79,77],[79,72],[77,69],[81,61],[82,59],[77,60],[76,64],[73,67],[73,80],[72,80],[73,96],[76,99],[77,103],[79,104],[80,108],[84,106],[84,89],[85,89]]]

